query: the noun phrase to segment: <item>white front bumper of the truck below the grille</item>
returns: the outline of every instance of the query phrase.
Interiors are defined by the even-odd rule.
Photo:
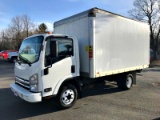
[[[42,101],[41,93],[32,93],[32,92],[24,89],[23,87],[21,87],[17,84],[14,84],[14,83],[11,84],[10,87],[16,96],[19,96],[20,98],[22,98],[23,100],[25,100],[27,102],[35,103],[35,102]]]

